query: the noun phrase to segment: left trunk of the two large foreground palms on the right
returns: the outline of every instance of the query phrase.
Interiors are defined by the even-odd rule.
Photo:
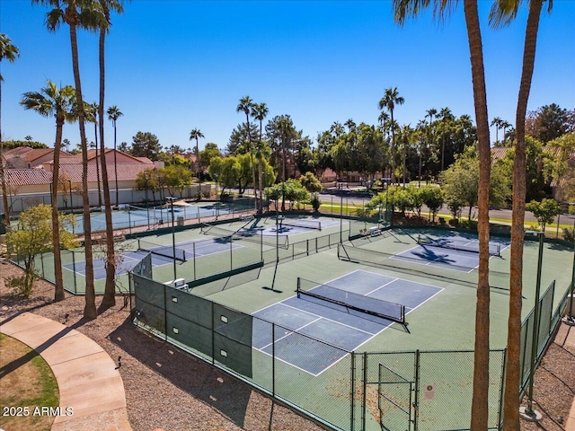
[[[473,362],[473,408],[471,430],[483,431],[488,427],[489,409],[489,181],[491,152],[485,71],[483,68],[482,35],[477,12],[477,0],[464,2],[465,24],[473,79],[473,102],[477,123],[477,149],[479,153],[479,277],[475,306],[475,353]]]

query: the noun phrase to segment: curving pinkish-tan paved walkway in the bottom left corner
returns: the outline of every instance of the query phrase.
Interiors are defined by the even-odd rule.
[[[52,431],[131,431],[124,384],[111,357],[84,334],[31,312],[0,322],[0,332],[33,348],[52,368],[60,407]]]

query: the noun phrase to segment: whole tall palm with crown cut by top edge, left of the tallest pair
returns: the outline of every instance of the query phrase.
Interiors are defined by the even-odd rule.
[[[82,206],[84,212],[84,252],[86,259],[84,319],[91,321],[98,316],[98,312],[96,311],[96,297],[93,285],[92,224],[90,221],[90,196],[88,194],[88,148],[76,32],[78,27],[89,28],[93,25],[93,22],[97,22],[98,11],[93,8],[94,4],[90,0],[32,0],[32,4],[47,4],[54,7],[54,9],[46,15],[49,31],[57,31],[62,23],[66,23],[70,30],[72,70],[74,72],[75,98],[79,107],[78,125],[80,129],[80,145],[82,145]]]

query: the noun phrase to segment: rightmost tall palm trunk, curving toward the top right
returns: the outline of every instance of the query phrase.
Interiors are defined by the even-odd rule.
[[[511,258],[509,267],[509,319],[507,369],[503,394],[503,429],[519,430],[519,384],[521,379],[521,293],[523,290],[523,235],[526,198],[525,119],[531,79],[535,65],[535,48],[542,1],[531,0],[527,16],[523,69],[517,98],[517,144],[513,160],[513,212],[511,215]]]

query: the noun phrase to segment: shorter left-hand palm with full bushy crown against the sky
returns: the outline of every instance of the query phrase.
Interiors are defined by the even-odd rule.
[[[25,92],[20,104],[25,110],[33,110],[42,117],[54,116],[56,119],[56,139],[54,141],[54,165],[52,168],[52,244],[54,246],[54,280],[56,288],[54,301],[64,299],[64,278],[62,277],[62,257],[60,254],[60,226],[57,212],[57,189],[60,169],[60,147],[62,144],[62,128],[67,121],[72,123],[77,118],[75,90],[71,85],[57,89],[56,84],[48,81],[40,92]]]

